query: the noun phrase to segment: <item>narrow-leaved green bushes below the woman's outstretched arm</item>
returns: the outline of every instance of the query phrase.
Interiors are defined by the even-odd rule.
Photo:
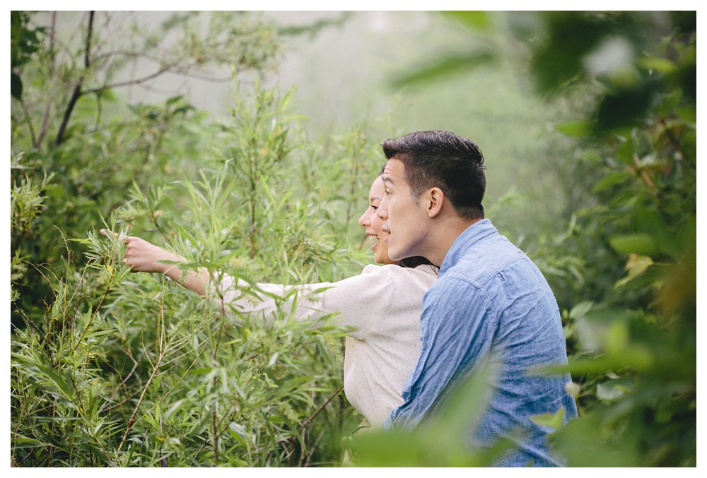
[[[115,229],[115,222],[106,227]],[[118,260],[123,238],[89,233],[81,239],[89,251],[86,269],[54,283],[57,297],[44,320],[16,330],[14,462],[274,466],[312,460],[310,436],[342,426],[326,412],[323,423],[314,421],[341,390],[331,373],[341,367],[334,330],[310,330],[287,310],[271,329],[250,326],[245,317],[245,325],[234,327],[208,301],[173,283],[132,279]],[[90,287],[103,292],[98,304],[83,292]]]

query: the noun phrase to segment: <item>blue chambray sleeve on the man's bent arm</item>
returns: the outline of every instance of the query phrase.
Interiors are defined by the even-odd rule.
[[[443,407],[450,386],[489,353],[492,316],[484,292],[469,282],[443,277],[433,285],[423,299],[419,361],[384,429],[413,429]]]

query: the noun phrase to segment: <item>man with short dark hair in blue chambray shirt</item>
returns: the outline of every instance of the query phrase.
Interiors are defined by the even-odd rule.
[[[559,309],[547,281],[520,249],[484,219],[486,179],[478,146],[446,131],[421,131],[382,143],[388,161],[378,207],[390,258],[423,256],[440,267],[423,299],[422,350],[385,429],[412,429],[436,414],[484,361],[498,364],[484,414],[469,431],[474,447],[510,438],[499,466],[556,466],[537,414],[564,408],[568,374],[530,369],[566,364]]]

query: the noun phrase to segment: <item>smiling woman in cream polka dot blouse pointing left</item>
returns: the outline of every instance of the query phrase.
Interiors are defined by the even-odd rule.
[[[346,337],[344,354],[344,393],[351,405],[372,426],[380,426],[390,411],[402,404],[402,388],[417,363],[420,353],[420,311],[422,297],[437,278],[436,268],[423,258],[411,258],[400,264],[391,261],[382,241],[382,221],[375,214],[385,193],[381,177],[370,187],[368,208],[358,224],[375,241],[372,248],[375,261],[382,265],[367,265],[361,275],[339,282],[324,282],[287,286],[258,284],[264,292],[278,297],[293,297],[297,301],[297,318],[316,320],[339,313],[337,323],[353,328]],[[101,234],[107,234],[100,229]],[[276,307],[268,294],[244,296],[245,282],[236,282],[224,275],[217,284],[209,285],[206,273],[190,273],[186,277],[175,262],[184,258],[164,251],[139,237],[125,240],[123,262],[134,272],[162,273],[198,294],[206,295],[209,287],[222,302],[223,310],[241,313],[263,313]],[[172,263],[165,263],[169,261]],[[325,289],[324,292],[315,291]]]

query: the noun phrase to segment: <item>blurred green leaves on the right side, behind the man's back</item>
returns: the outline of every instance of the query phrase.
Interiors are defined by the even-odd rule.
[[[575,111],[556,125],[575,138],[575,156],[547,164],[566,172],[556,185],[559,230],[509,234],[546,275],[563,316],[570,364],[549,371],[571,372],[580,417],[556,422],[551,446],[573,467],[695,466],[695,12],[446,15],[478,40],[470,58],[512,52],[539,95]],[[436,68],[399,81],[449,73]],[[489,216],[514,199],[501,197]],[[399,440],[437,450],[424,431]],[[453,465],[455,448],[445,452],[435,463]]]

